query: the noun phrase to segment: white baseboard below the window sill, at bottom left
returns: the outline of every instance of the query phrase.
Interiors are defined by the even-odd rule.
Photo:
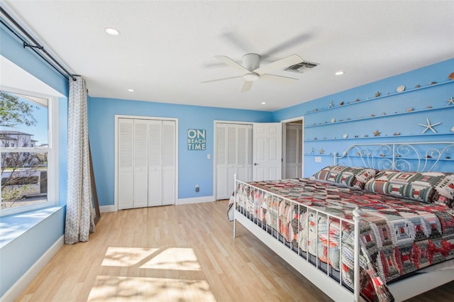
[[[38,259],[30,269],[21,276],[21,278],[19,278],[18,281],[1,296],[0,301],[14,301],[64,244],[65,235],[62,235],[62,237],[58,238],[57,241],[49,247],[49,250],[47,250],[43,256],[41,256],[40,259]]]

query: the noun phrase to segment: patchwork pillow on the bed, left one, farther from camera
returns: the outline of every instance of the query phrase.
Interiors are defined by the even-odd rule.
[[[375,176],[377,170],[362,167],[328,166],[312,175],[311,179],[331,181],[336,184],[363,189],[365,183]]]

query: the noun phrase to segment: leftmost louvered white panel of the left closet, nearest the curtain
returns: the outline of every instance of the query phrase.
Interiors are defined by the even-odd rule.
[[[134,206],[134,121],[118,118],[118,210]]]

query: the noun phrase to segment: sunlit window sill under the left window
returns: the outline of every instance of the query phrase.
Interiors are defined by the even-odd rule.
[[[0,249],[11,241],[31,230],[35,225],[52,214],[60,211],[64,206],[50,206],[38,210],[12,214],[0,217]]]

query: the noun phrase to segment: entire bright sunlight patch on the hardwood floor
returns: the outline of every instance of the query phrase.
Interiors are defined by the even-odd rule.
[[[123,268],[96,276],[88,301],[216,301],[192,248],[109,247],[101,266]]]

